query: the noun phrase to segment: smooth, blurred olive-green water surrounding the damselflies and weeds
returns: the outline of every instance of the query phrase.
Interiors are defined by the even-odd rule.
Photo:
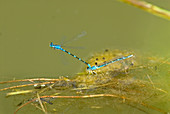
[[[169,0],[149,2],[170,10]],[[49,43],[82,31],[68,46],[85,49],[67,50],[84,60],[105,48],[170,56],[170,21],[117,0],[0,0],[0,80],[74,76],[85,65]],[[4,95],[0,113],[11,114],[15,99]]]

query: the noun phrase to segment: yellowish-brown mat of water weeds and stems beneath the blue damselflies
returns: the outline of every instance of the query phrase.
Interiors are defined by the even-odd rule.
[[[123,110],[126,112],[127,107],[140,113],[169,112],[167,107],[159,106],[160,103],[169,103],[170,97],[168,90],[164,90],[158,81],[160,76],[169,74],[168,59],[107,49],[94,54],[87,62],[92,66],[100,65],[130,54],[134,57],[97,69],[95,74],[84,68],[74,79],[61,76],[59,79],[37,78],[0,82],[14,84],[0,91],[12,90],[7,93],[8,97],[24,95],[24,100],[18,104],[16,112],[29,104],[44,113],[60,113],[69,108],[94,111],[107,109],[108,106],[116,113],[123,113]],[[162,72],[164,75],[161,75]],[[21,87],[24,88],[20,89]]]

